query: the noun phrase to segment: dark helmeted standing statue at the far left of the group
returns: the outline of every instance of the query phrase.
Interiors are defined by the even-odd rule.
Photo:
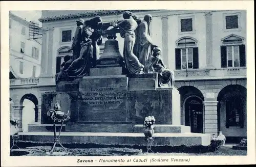
[[[81,42],[82,42],[82,25],[84,23],[84,20],[79,18],[76,20],[76,31],[74,35],[74,39],[72,42],[71,49],[69,51],[73,50],[73,60],[76,60],[79,57],[80,49],[81,49]]]

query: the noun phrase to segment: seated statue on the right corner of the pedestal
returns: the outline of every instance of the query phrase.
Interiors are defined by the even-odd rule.
[[[158,82],[160,87],[173,87],[174,71],[165,67],[160,56],[161,49],[159,47],[155,47],[153,49],[153,55],[150,55],[146,62],[145,72],[158,73]]]

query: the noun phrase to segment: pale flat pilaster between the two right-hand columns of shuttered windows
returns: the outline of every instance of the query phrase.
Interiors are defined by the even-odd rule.
[[[212,14],[205,13],[205,28],[206,28],[206,68],[213,68],[212,65]]]

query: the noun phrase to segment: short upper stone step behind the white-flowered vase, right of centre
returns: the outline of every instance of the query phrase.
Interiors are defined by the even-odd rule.
[[[141,133],[143,132],[143,129],[143,125],[134,126],[135,133]],[[190,132],[190,126],[158,124],[154,125],[154,130],[155,133],[187,133]]]

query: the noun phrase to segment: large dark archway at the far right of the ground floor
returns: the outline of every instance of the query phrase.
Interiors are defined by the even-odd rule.
[[[218,131],[241,140],[247,136],[247,92],[241,85],[224,87],[217,97]],[[237,141],[237,142],[238,142]]]

